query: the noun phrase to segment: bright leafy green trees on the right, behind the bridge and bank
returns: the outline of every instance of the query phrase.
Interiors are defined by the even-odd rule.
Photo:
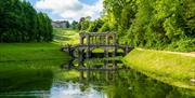
[[[82,31],[116,31],[134,46],[195,51],[195,0],[104,0],[96,20],[82,17]]]

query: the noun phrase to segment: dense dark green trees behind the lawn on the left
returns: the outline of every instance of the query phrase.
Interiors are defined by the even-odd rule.
[[[0,0],[0,42],[52,41],[51,19],[25,0]]]

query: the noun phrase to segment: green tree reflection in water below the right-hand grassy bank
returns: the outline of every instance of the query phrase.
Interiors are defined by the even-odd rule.
[[[105,88],[108,98],[194,98],[187,89],[177,88],[134,70],[121,70],[113,85]],[[182,94],[183,93],[183,94]],[[190,93],[190,92],[188,92]]]

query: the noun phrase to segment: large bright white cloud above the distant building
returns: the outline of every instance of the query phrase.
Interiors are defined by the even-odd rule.
[[[80,17],[91,16],[92,19],[100,17],[103,10],[103,0],[94,4],[84,4],[79,0],[40,0],[36,3],[38,10],[51,10],[65,19],[79,20]]]

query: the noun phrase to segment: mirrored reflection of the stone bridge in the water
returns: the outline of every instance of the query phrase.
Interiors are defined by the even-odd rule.
[[[129,71],[130,68],[120,60],[91,59],[75,62],[73,59],[64,69],[77,70],[81,83],[105,83],[116,81],[120,78],[120,70]]]

